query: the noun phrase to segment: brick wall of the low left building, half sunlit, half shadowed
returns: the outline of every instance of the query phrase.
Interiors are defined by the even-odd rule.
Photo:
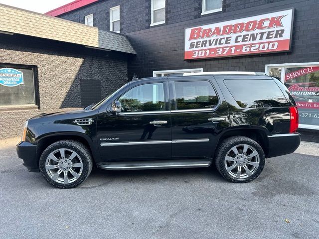
[[[0,63],[35,65],[40,110],[0,111],[0,138],[21,134],[23,122],[35,115],[98,102],[127,82],[127,59],[31,37],[0,38]]]

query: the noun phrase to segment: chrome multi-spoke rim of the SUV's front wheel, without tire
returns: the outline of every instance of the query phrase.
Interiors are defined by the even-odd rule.
[[[45,161],[48,176],[57,183],[75,182],[82,174],[81,157],[71,149],[60,148],[49,154]]]

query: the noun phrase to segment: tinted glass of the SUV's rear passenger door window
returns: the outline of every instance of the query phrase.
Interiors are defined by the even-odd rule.
[[[218,97],[208,81],[175,82],[177,110],[211,109],[217,106]]]

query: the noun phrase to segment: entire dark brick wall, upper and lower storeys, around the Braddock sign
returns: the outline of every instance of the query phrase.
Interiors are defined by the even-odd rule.
[[[60,17],[109,30],[109,8],[120,5],[121,33],[128,35],[137,56],[128,75],[151,77],[155,70],[203,68],[204,71],[264,71],[266,64],[319,61],[318,0],[223,0],[223,10],[201,15],[202,0],[166,0],[165,23],[151,24],[151,0],[100,0]],[[224,59],[184,61],[184,28],[295,7],[292,52]]]

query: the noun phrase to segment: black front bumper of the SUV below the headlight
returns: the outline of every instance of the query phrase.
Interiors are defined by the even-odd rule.
[[[36,145],[29,142],[19,142],[16,145],[16,153],[29,172],[39,172],[39,165],[36,160]]]

